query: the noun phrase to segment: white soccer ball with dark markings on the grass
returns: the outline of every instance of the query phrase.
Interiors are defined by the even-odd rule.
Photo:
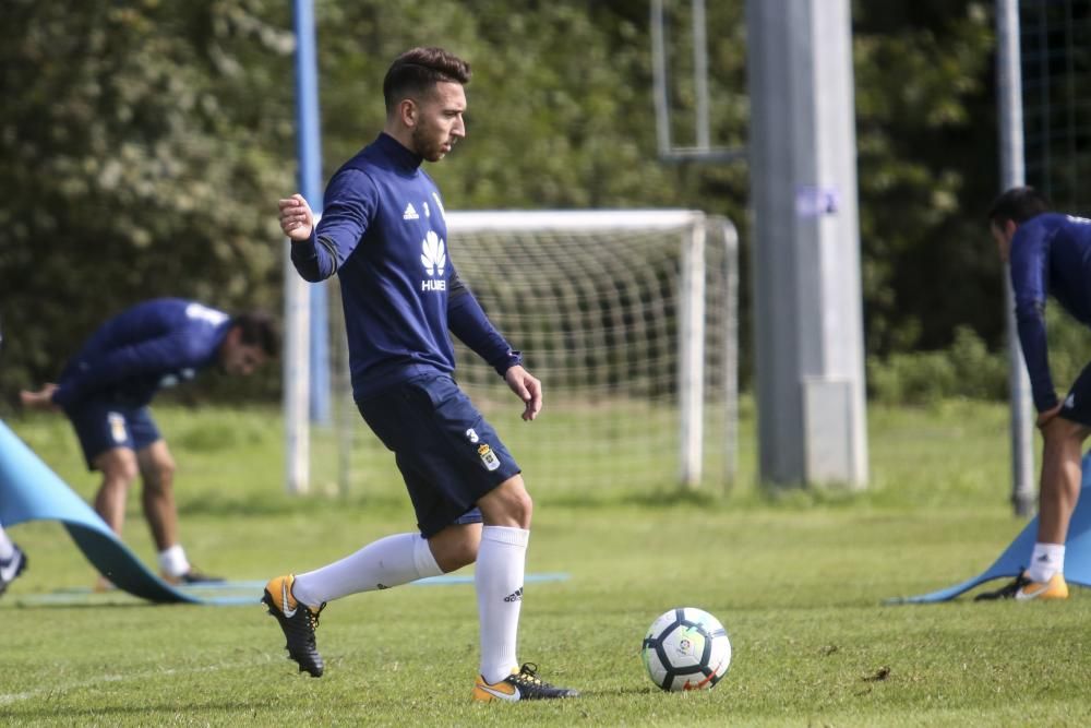
[[[707,611],[679,607],[651,623],[640,657],[663,690],[710,690],[731,665],[731,641]]]

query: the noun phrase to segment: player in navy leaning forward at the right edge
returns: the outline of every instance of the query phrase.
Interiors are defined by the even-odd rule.
[[[1052,295],[1091,326],[1091,219],[1051,212],[1035,190],[1019,187],[997,198],[988,222],[1000,259],[1011,265],[1019,344],[1044,447],[1030,565],[1012,583],[979,598],[1065,599],[1065,540],[1080,496],[1083,441],[1091,434],[1091,365],[1059,401],[1050,375],[1045,299]]]

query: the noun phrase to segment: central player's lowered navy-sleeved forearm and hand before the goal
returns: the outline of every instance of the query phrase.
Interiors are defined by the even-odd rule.
[[[489,321],[472,291],[451,264],[447,279],[447,326],[458,341],[484,359],[523,399],[523,419],[530,421],[542,408],[542,384],[523,367],[523,355],[512,348]]]

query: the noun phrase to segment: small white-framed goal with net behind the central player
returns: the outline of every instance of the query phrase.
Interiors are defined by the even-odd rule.
[[[616,487],[654,494],[731,481],[738,260],[727,219],[672,210],[448,213],[446,222],[459,277],[543,384],[542,414],[524,422],[504,380],[455,341],[456,380],[532,492],[594,499]],[[334,382],[335,402],[350,406],[346,378]],[[324,457],[340,463],[340,488],[400,487],[389,453],[343,413],[340,457]]]

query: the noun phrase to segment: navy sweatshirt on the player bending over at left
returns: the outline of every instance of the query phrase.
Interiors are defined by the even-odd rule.
[[[64,367],[52,399],[65,409],[95,398],[146,405],[159,387],[215,363],[230,327],[228,314],[195,301],[137,303],[92,334]]]

